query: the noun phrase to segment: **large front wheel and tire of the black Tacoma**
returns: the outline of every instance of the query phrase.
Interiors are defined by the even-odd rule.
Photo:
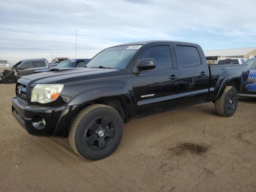
[[[74,118],[68,140],[74,152],[88,160],[100,160],[112,154],[120,144],[124,124],[113,108],[93,104]]]

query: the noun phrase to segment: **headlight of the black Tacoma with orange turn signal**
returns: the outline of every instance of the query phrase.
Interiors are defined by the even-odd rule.
[[[32,90],[31,102],[49,103],[58,98],[64,84],[36,84]]]

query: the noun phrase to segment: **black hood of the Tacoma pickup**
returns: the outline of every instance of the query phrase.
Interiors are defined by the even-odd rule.
[[[72,83],[100,78],[122,76],[123,69],[102,69],[102,68],[53,68],[47,72],[23,76],[33,83]]]

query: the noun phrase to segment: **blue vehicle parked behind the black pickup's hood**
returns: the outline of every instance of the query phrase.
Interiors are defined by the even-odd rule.
[[[84,67],[90,59],[68,59],[60,62],[56,68],[80,68]],[[47,72],[51,69],[36,70],[35,73]]]

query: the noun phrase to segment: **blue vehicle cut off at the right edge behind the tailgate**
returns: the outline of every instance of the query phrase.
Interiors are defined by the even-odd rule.
[[[245,64],[248,64],[250,67],[250,74],[246,86],[247,91],[238,95],[245,97],[256,97],[256,57],[248,60]]]

